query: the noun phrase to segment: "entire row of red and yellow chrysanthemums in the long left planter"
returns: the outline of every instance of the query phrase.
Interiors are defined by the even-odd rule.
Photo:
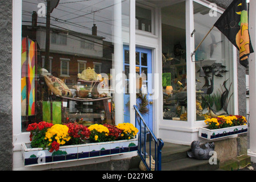
[[[76,122],[53,125],[44,121],[30,124],[27,131],[30,131],[32,148],[48,148],[50,152],[58,151],[62,145],[85,143],[86,139],[91,142],[109,142],[133,139],[138,133],[131,123],[118,126],[94,124],[87,127]]]

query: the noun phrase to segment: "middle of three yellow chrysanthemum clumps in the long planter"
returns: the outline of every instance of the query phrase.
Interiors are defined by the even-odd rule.
[[[93,142],[106,142],[109,136],[109,129],[106,126],[94,124],[88,127],[90,130],[90,139]]]

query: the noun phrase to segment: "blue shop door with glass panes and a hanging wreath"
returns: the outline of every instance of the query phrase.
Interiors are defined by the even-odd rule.
[[[152,57],[151,57],[151,49],[139,48],[136,47],[136,73],[141,75],[141,73],[145,73],[146,80],[142,82],[141,88],[139,89],[139,93],[146,93],[147,100],[149,101],[149,105],[147,108],[149,109],[147,114],[143,114],[143,118],[145,118],[147,124],[150,129],[153,130],[153,111],[152,111]],[[123,60],[124,67],[127,77],[127,86],[124,94],[124,113],[125,113],[125,122],[130,122],[130,95],[129,95],[129,46],[123,46]],[[138,83],[137,83],[138,84]],[[145,86],[146,85],[146,86]],[[146,88],[146,89],[145,89]],[[145,90],[147,92],[145,92]],[[137,94],[138,95],[138,94]],[[141,102],[141,98],[137,98],[137,105]]]

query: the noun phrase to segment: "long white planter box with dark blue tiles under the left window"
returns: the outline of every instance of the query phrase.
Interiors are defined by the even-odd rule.
[[[87,143],[72,146],[61,146],[59,151],[65,154],[53,155],[42,148],[31,148],[30,143],[22,143],[22,159],[24,166],[82,160],[123,154],[137,151],[138,140],[118,140],[114,142]]]

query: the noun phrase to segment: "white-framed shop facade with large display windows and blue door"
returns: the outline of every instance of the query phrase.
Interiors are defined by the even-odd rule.
[[[43,110],[44,103],[59,100],[52,100],[55,94],[46,85],[41,68],[65,82],[70,92],[74,85],[90,87],[90,82],[81,82],[79,74],[94,68],[101,82],[93,94],[98,97],[106,93],[112,97],[108,101],[110,117],[105,113],[102,120],[109,119],[107,121],[115,125],[123,122],[135,125],[133,105],[139,102],[137,94],[146,93],[149,101],[146,120],[157,138],[164,142],[185,145],[194,140],[206,142],[198,137],[198,129],[205,126],[203,121],[209,106],[216,113],[225,111],[246,116],[245,68],[238,63],[237,49],[229,40],[214,28],[191,56],[230,3],[61,0],[52,9],[49,20],[45,1],[40,4],[31,0],[1,1],[0,168],[43,170],[94,163],[80,160],[53,166],[23,166],[21,143],[29,142],[26,127],[30,123],[46,121],[46,118],[53,123],[81,118],[100,123],[102,119],[91,117],[101,113],[101,104],[78,106],[69,102],[59,108],[61,119],[53,121],[52,112],[46,114]],[[28,53],[27,47],[32,43],[35,50]],[[34,75],[28,76],[23,63],[33,53]],[[27,87],[27,81],[21,86],[23,78],[33,81],[32,90]],[[229,91],[228,103],[223,106],[221,96],[225,89]],[[247,147],[245,143],[242,145],[241,148]],[[95,160],[103,162],[111,158]]]

